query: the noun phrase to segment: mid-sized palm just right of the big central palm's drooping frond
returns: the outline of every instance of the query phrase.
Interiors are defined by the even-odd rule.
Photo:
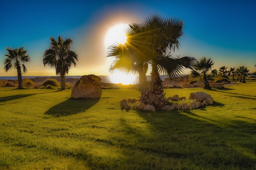
[[[199,60],[196,61],[194,69],[191,71],[192,77],[196,78],[200,76],[200,74],[203,75],[203,81],[204,81],[204,87],[205,89],[211,89],[209,82],[207,80],[207,72],[211,70],[211,66],[214,64],[214,62],[211,60],[211,58],[202,57]],[[216,72],[216,71],[214,71]]]

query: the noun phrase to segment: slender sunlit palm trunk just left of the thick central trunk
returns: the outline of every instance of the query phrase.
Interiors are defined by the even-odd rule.
[[[139,81],[140,81],[140,102],[143,102],[145,104],[150,103],[149,100],[149,87],[147,82],[146,73],[144,71],[140,71],[139,73]]]

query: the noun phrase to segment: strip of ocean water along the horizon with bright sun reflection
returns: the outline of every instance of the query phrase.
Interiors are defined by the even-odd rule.
[[[22,78],[35,78],[35,77],[59,77],[59,76],[23,76]],[[82,76],[66,76],[66,78],[80,79]],[[136,75],[110,75],[110,76],[98,76],[101,78],[102,83],[122,83],[123,85],[138,84],[139,76]],[[165,75],[160,76],[161,80],[167,78]],[[0,80],[17,80],[17,76],[0,76]],[[147,76],[147,81],[151,81],[151,77]]]

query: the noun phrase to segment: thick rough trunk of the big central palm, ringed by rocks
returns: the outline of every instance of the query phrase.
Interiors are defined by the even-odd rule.
[[[150,91],[150,104],[155,106],[156,109],[161,108],[167,104],[167,99],[165,98],[162,80],[157,69],[157,64],[152,63],[151,72],[151,91]]]

